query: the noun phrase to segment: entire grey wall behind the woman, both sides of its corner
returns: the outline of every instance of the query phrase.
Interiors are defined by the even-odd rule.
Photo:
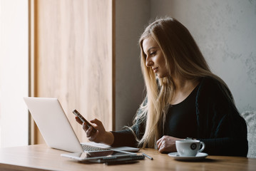
[[[163,16],[190,30],[238,110],[256,110],[256,0],[117,0],[116,130],[131,123],[143,97],[140,33]]]

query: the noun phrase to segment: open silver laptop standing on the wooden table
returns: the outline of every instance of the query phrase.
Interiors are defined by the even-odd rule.
[[[57,98],[24,98],[24,101],[49,147],[68,152],[139,150],[135,147],[111,147],[95,142],[80,143]]]

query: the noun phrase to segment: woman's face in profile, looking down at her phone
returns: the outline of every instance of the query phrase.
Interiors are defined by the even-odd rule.
[[[158,43],[150,36],[143,40],[143,52],[146,56],[145,66],[152,68],[159,78],[168,76],[163,52],[160,50]]]

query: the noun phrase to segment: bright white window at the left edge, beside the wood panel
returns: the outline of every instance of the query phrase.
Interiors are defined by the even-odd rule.
[[[0,1],[0,147],[29,142],[28,26],[27,0]]]

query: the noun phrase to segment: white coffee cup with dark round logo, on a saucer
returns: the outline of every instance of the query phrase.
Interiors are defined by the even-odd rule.
[[[200,140],[176,140],[176,149],[180,156],[195,156],[205,149],[205,143]],[[202,147],[200,148],[200,146]]]

